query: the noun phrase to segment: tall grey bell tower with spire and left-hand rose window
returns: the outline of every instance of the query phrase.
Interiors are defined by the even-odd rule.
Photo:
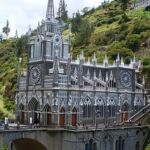
[[[38,24],[35,35],[28,41],[28,85],[41,85],[49,69],[53,67],[55,57],[67,60],[69,44],[60,32],[59,22],[54,17],[54,2],[48,1],[45,21]]]

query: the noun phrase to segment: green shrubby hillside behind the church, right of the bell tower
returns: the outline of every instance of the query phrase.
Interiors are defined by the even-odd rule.
[[[144,8],[131,10],[128,7],[124,12],[119,2],[112,1],[84,13],[82,20],[93,26],[93,30],[88,39],[84,23],[83,27],[82,23],[79,26],[79,32],[73,32],[73,58],[81,50],[87,57],[96,52],[99,62],[102,62],[105,54],[109,56],[110,62],[118,53],[126,63],[136,56],[143,62],[143,73],[147,76],[146,86],[150,89],[150,11]]]

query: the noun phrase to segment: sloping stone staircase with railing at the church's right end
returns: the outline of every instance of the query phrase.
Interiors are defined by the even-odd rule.
[[[143,118],[145,115],[150,113],[150,104],[143,107],[140,111],[138,111],[136,114],[134,114],[131,118],[129,118],[126,122],[127,123],[136,123],[141,118]]]

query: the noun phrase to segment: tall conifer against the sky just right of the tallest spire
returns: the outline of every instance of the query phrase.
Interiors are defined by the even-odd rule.
[[[68,20],[68,11],[66,8],[67,5],[65,3],[65,0],[60,0],[57,16],[59,20],[62,20],[64,22],[67,22]]]

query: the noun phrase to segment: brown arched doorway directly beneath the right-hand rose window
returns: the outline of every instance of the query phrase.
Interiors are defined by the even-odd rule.
[[[121,122],[127,121],[129,118],[129,104],[125,102],[121,109]]]

